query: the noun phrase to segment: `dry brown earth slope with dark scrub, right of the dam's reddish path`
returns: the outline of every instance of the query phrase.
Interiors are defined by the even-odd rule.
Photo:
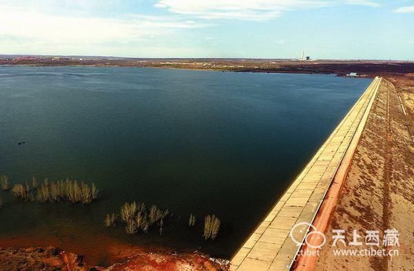
[[[414,74],[386,75],[369,114],[333,213],[315,270],[413,270]],[[383,243],[395,228],[400,247]],[[345,230],[347,247],[333,246],[332,230]],[[353,230],[362,245],[349,246]],[[380,245],[366,245],[366,230],[380,231]],[[335,249],[398,250],[398,256],[335,256]]]

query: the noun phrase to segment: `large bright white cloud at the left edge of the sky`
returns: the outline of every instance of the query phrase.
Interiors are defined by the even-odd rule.
[[[40,11],[0,6],[0,36],[42,43],[78,44],[131,42],[174,29],[201,28],[206,23],[174,17],[125,15],[121,19],[57,16]],[[5,42],[3,40],[3,42]]]

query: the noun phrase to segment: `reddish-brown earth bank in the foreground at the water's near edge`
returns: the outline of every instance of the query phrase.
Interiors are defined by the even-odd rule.
[[[229,270],[228,261],[213,259],[199,253],[163,254],[143,252],[134,254],[110,267],[88,266],[83,257],[58,248],[0,248],[1,271],[190,271]]]

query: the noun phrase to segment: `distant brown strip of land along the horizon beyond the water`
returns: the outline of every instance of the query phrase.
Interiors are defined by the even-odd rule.
[[[374,77],[380,72],[409,73],[413,61],[315,60],[288,59],[135,59],[119,57],[41,57],[0,56],[1,65],[29,66],[127,66],[141,68],[181,68],[232,72],[291,72],[337,74],[345,76],[357,72]]]

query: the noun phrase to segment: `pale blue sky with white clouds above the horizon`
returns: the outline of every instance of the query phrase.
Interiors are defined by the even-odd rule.
[[[414,60],[414,0],[0,0],[0,54]]]

